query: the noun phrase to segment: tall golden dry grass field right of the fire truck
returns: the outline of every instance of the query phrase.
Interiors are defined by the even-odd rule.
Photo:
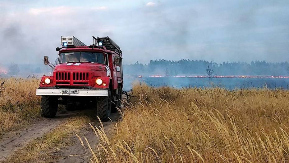
[[[287,90],[134,85],[132,94],[114,137],[91,126],[92,162],[289,161]]]

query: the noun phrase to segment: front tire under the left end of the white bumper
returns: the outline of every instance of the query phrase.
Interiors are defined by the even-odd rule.
[[[43,117],[55,117],[57,113],[57,107],[57,98],[52,96],[41,96],[41,110]]]

